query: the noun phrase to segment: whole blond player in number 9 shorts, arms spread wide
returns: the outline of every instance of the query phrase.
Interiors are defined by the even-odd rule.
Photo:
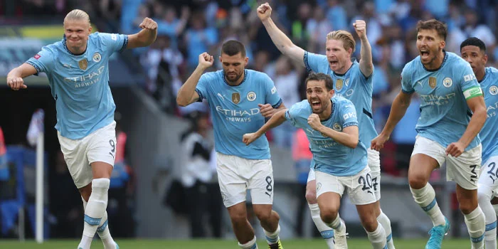
[[[91,33],[90,17],[75,9],[64,18],[64,37],[7,75],[12,90],[26,89],[23,78],[46,73],[57,109],[60,149],[85,206],[78,249],[88,249],[97,232],[105,249],[119,248],[107,226],[107,192],[114,166],[116,109],[109,88],[110,55],[124,48],[149,46],[157,23],[144,18],[132,35]],[[91,34],[90,34],[91,33]]]

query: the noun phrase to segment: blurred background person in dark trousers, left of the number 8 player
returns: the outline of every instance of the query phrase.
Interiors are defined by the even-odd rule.
[[[181,183],[184,185],[190,231],[193,238],[206,237],[204,224],[210,224],[215,237],[221,237],[221,194],[210,193],[209,184],[216,174],[209,164],[212,144],[208,142],[209,120],[206,112],[191,112],[191,129],[181,135],[184,166],[181,167]],[[216,208],[211,208],[216,207]],[[209,221],[204,221],[204,215]]]

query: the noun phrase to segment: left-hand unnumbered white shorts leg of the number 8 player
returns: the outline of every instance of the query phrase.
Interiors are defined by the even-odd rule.
[[[235,156],[217,153],[216,172],[223,204],[228,208],[245,202],[247,180],[237,172]]]

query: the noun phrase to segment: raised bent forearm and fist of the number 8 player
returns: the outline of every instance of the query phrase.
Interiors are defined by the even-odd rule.
[[[197,83],[204,73],[204,70],[213,65],[213,62],[214,58],[212,55],[209,55],[206,52],[199,55],[199,63],[196,70],[194,70],[194,73],[190,75],[184,85],[181,86],[180,90],[178,90],[178,95],[176,95],[176,103],[179,106],[190,105],[199,99],[199,95],[196,92]]]

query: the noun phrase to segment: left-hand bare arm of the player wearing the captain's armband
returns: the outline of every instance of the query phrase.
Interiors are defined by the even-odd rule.
[[[399,120],[403,118],[406,110],[410,106],[411,94],[400,91],[391,105],[391,112],[387,119],[384,129],[382,129],[381,134],[378,134],[371,142],[371,149],[376,151],[381,150],[384,147],[384,143],[391,137],[394,127],[398,124]]]

